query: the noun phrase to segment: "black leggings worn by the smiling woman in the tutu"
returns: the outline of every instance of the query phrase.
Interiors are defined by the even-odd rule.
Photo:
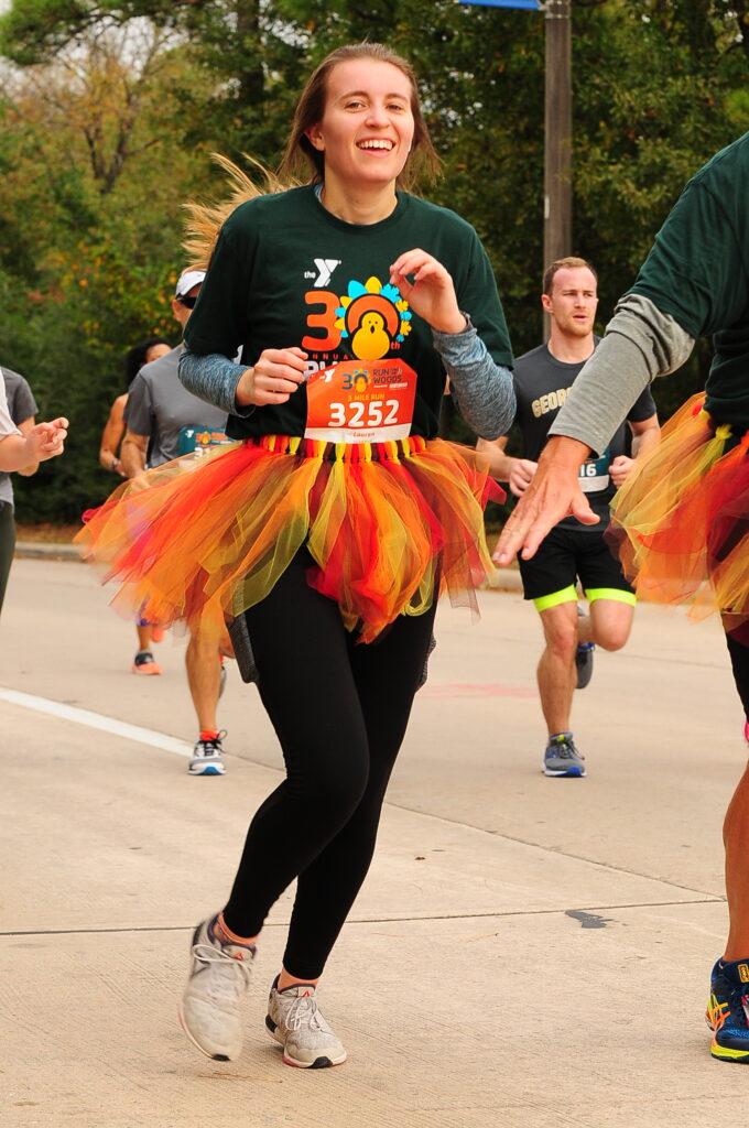
[[[287,970],[317,979],[367,875],[382,800],[432,635],[434,608],[358,644],[338,607],[307,583],[300,553],[247,611],[263,704],[287,778],[247,832],[228,927],[255,936],[298,878]]]

